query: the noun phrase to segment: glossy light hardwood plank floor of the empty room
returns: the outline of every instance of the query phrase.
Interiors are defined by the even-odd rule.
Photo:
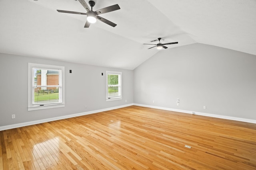
[[[0,131],[0,141],[0,170],[256,169],[256,124],[139,106]]]

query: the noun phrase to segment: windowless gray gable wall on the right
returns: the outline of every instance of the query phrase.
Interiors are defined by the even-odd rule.
[[[256,56],[200,43],[159,51],[134,70],[134,103],[256,120]]]

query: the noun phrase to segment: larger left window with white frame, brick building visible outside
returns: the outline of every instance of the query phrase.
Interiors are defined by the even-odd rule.
[[[28,63],[28,111],[64,107],[64,66]]]

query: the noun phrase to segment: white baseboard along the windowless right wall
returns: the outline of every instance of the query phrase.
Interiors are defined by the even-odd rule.
[[[243,122],[248,122],[248,123],[256,123],[256,120],[254,120],[254,119],[244,119],[244,118],[240,118],[240,117],[215,115],[215,114],[210,114],[210,113],[202,113],[202,112],[188,111],[188,110],[181,110],[181,109],[172,109],[172,108],[168,108],[168,107],[158,107],[158,106],[150,106],[150,105],[144,105],[144,104],[134,104],[134,105],[142,106],[142,107],[150,107],[150,108],[154,108],[154,109],[168,110],[168,111],[177,111],[177,112],[189,113],[189,114],[192,114],[192,112],[194,112],[196,115],[215,117],[215,118],[220,118],[220,119],[235,120],[235,121],[243,121]]]

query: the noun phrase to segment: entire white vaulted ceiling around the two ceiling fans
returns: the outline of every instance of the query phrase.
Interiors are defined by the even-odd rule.
[[[143,43],[162,37],[179,42],[168,49],[204,43],[256,55],[255,0],[95,2],[93,10],[120,6],[100,15],[116,27],[84,28],[86,16],[56,11],[86,12],[74,0],[0,0],[0,53],[132,70],[158,52]]]

